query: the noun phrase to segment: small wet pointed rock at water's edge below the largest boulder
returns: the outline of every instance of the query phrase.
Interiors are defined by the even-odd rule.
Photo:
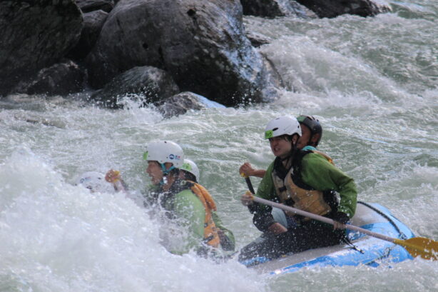
[[[188,91],[170,96],[168,99],[161,101],[160,106],[157,106],[158,111],[160,111],[165,118],[185,114],[191,109],[199,111],[204,108],[205,105],[199,100],[198,94],[193,94]]]

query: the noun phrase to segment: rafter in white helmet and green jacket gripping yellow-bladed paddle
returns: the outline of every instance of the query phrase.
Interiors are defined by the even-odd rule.
[[[241,201],[253,213],[255,226],[267,235],[267,239],[245,246],[240,251],[241,261],[256,256],[275,258],[345,240],[345,230],[340,228],[355,214],[355,182],[321,153],[297,149],[300,136],[301,126],[294,117],[281,116],[268,123],[265,139],[269,139],[275,160],[268,167],[255,196],[327,216],[335,225],[288,214],[293,218],[293,224],[286,228],[275,221],[270,206],[254,203],[250,194],[245,193]],[[339,202],[333,191],[339,193]]]

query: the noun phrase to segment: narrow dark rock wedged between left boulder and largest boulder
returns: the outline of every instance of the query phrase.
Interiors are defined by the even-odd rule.
[[[108,13],[97,10],[83,14],[83,28],[78,44],[68,53],[72,59],[83,60],[93,49]]]

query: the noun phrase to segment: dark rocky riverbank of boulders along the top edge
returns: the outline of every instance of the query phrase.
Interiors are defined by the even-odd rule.
[[[121,107],[126,94],[168,109],[270,102],[282,79],[243,15],[375,16],[370,0],[20,0],[0,2],[0,95],[68,95]],[[183,94],[180,94],[183,93]]]

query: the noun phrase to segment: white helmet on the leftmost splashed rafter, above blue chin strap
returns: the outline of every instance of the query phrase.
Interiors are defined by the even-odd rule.
[[[149,161],[158,161],[158,163],[173,163],[175,168],[183,166],[184,153],[183,148],[172,141],[152,142],[146,146],[146,152],[143,153],[143,159]]]

